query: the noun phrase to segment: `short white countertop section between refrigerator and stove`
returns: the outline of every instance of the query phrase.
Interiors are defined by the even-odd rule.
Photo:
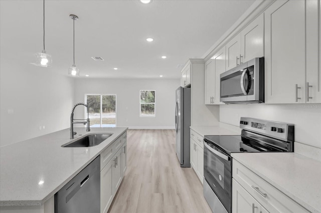
[[[190,128],[203,137],[204,135],[237,135],[241,134],[242,130],[239,126],[222,122],[219,122],[217,125],[212,126],[191,126]]]

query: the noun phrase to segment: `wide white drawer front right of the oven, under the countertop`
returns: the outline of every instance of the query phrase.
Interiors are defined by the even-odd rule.
[[[308,212],[235,159],[233,159],[232,176],[269,212]]]

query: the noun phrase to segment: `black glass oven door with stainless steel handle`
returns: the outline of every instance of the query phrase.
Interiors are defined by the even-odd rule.
[[[232,158],[204,139],[204,177],[221,203],[231,212]]]

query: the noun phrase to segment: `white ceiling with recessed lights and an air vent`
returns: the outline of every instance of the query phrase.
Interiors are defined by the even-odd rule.
[[[45,45],[53,67],[37,67],[43,49],[43,1],[0,0],[1,62],[23,63],[68,74],[75,64],[81,77],[179,78],[178,64],[201,58],[254,0],[46,0]],[[153,42],[147,42],[153,37]],[[166,59],[161,56],[166,55]],[[101,56],[104,61],[94,61]],[[18,60],[17,60],[18,61]],[[118,67],[114,70],[113,67]]]

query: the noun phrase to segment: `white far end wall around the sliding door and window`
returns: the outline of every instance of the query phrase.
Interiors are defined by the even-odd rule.
[[[175,128],[175,90],[179,79],[76,79],[75,103],[86,93],[116,94],[116,125],[129,128]],[[156,90],[155,117],[139,116],[139,90]],[[75,118],[84,117],[77,107]]]

